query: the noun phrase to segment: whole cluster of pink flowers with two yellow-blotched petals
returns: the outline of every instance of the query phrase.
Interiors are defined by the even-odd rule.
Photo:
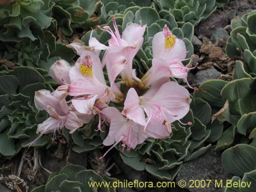
[[[166,26],[157,33],[152,42],[152,67],[140,79],[132,64],[142,46],[146,26],[130,24],[121,36],[115,17],[112,20],[114,31],[109,26],[99,27],[111,35],[109,46],[91,35],[89,46],[78,42],[69,45],[80,56],[73,67],[65,60],[58,60],[51,66],[50,75],[61,86],[52,93],[40,90],[35,94],[37,109],[46,110],[50,115],[38,125],[40,136],[63,126],[72,134],[97,115],[98,131],[102,131],[102,121],[110,123],[103,144],[112,145],[111,150],[121,142],[123,150],[126,148],[129,152],[147,138],[169,137],[172,123],[176,120],[182,123],[180,119],[189,110],[189,92],[169,77],[187,82],[187,71],[191,68],[182,64],[187,60],[183,40]],[[102,50],[105,53],[101,61]],[[104,67],[109,81],[104,78]],[[71,99],[66,101],[68,95]],[[113,104],[109,106],[110,103]]]

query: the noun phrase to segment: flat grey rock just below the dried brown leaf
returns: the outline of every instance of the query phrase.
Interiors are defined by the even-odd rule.
[[[191,83],[192,87],[198,87],[204,81],[211,79],[219,79],[221,73],[217,71],[214,67],[209,67],[204,70],[200,70],[196,75],[188,73],[188,82]]]

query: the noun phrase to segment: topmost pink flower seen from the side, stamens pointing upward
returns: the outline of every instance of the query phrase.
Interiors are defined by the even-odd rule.
[[[127,85],[132,86],[134,83],[132,75],[133,58],[142,46],[143,34],[146,26],[130,24],[124,29],[121,37],[115,16],[113,16],[112,20],[115,29],[114,31],[112,31],[109,26],[101,28],[101,30],[106,31],[111,35],[109,40],[109,48],[111,50],[106,51],[102,60],[102,65],[106,65],[111,85],[120,74],[122,80],[125,81]],[[98,42],[98,45],[102,44]]]

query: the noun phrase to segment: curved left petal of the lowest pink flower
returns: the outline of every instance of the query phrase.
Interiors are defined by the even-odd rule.
[[[112,145],[115,141],[120,140],[126,131],[127,120],[124,119],[122,114],[113,107],[105,108],[101,112],[106,120],[110,122],[110,130],[108,136],[104,139],[103,145]]]

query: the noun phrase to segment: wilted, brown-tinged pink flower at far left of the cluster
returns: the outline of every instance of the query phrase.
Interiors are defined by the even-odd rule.
[[[48,90],[40,90],[35,93],[35,106],[38,110],[45,110],[50,117],[43,123],[38,124],[37,133],[40,135],[29,145],[35,143],[42,135],[55,133],[66,126],[73,133],[81,127],[83,123],[91,121],[91,117],[79,114],[71,110],[66,102],[67,93],[64,91],[54,91],[50,93]],[[78,118],[79,116],[79,118]]]

